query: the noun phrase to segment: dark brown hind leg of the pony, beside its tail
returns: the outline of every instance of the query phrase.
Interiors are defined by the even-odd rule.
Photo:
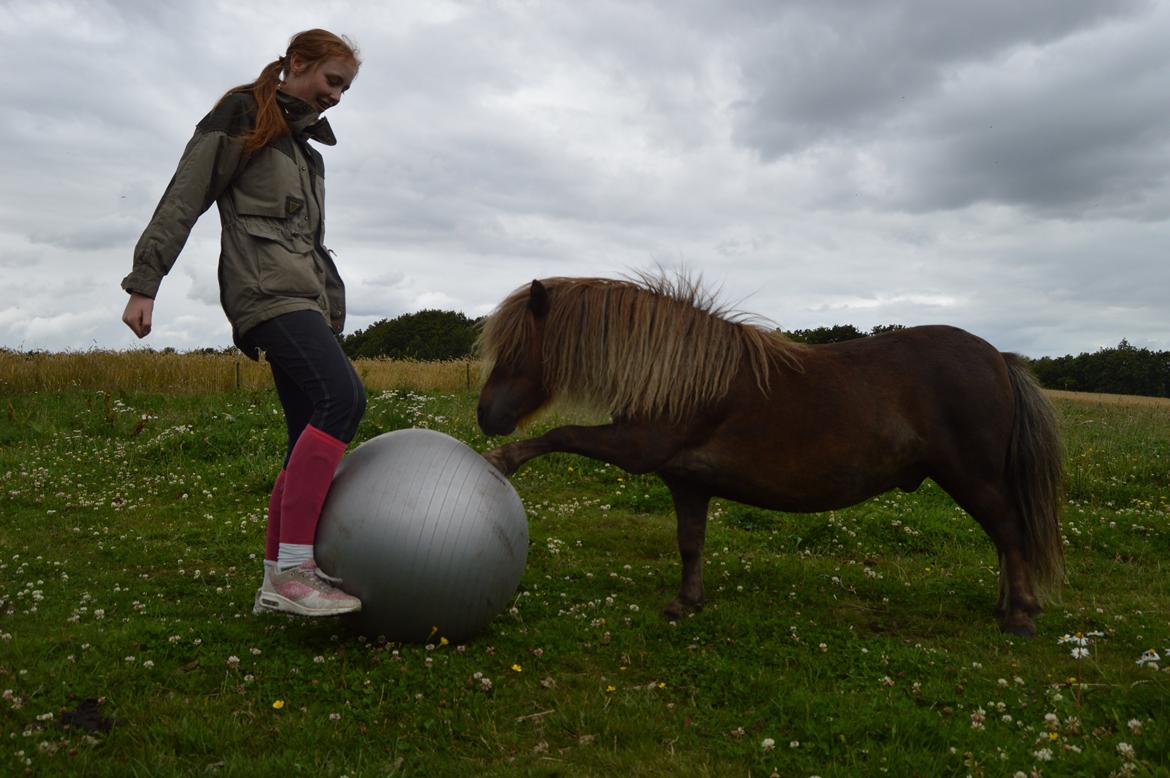
[[[963,510],[969,512],[996,544],[999,552],[999,600],[996,615],[1004,632],[1016,635],[1035,634],[1032,620],[1040,612],[1024,522],[1006,487],[978,483],[941,484]]]

